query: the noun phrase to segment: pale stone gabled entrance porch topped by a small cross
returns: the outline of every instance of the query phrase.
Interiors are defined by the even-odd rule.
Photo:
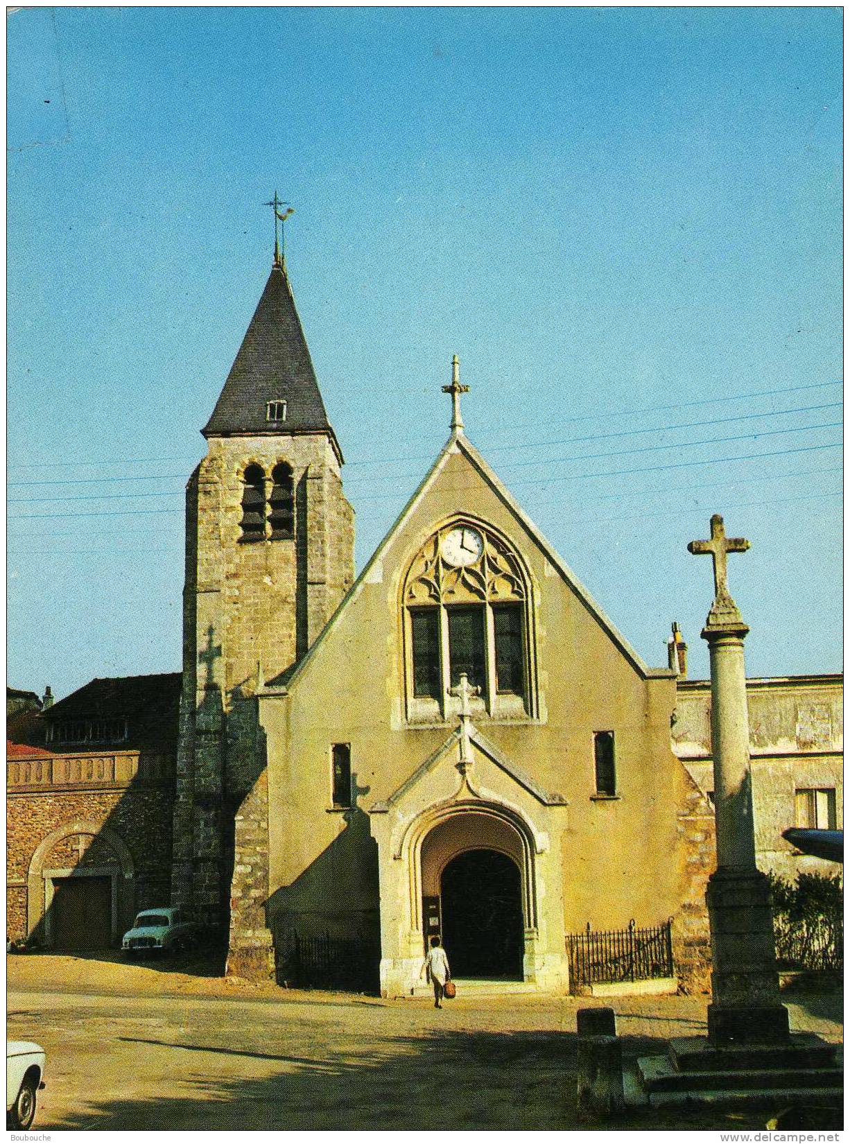
[[[416,995],[438,936],[452,977],[476,993],[569,987],[563,871],[550,837],[565,805],[515,770],[475,730],[459,737],[386,803],[371,808],[378,842],[383,996]],[[474,984],[472,984],[474,983]]]

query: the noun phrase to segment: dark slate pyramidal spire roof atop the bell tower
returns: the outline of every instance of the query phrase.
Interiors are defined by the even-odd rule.
[[[269,402],[286,402],[284,422],[269,422]],[[224,389],[201,431],[205,437],[325,432],[339,450],[280,262],[271,268]]]

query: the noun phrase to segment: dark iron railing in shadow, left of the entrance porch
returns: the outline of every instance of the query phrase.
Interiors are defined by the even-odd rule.
[[[278,952],[279,982],[310,988],[375,992],[380,946],[371,937],[335,938],[329,934],[289,934]]]

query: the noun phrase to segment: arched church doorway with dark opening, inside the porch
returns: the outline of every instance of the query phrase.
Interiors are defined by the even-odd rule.
[[[451,815],[421,850],[423,936],[439,934],[452,976],[523,980],[525,848],[505,819]]]

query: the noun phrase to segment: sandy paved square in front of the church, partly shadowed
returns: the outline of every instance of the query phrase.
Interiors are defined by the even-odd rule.
[[[8,962],[8,1035],[47,1050],[35,1128],[758,1128],[765,1114],[631,1111],[578,1120],[579,998],[427,1000],[228,984],[167,963]],[[707,998],[614,999],[627,1056],[705,1030]],[[841,1040],[841,998],[800,996],[795,1030]]]

